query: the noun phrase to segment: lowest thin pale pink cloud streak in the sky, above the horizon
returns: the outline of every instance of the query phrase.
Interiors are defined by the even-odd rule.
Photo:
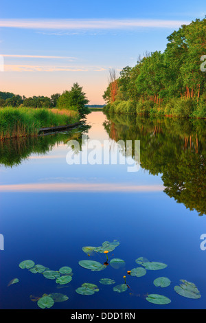
[[[45,65],[4,65],[4,71],[107,71],[99,66],[45,66]]]

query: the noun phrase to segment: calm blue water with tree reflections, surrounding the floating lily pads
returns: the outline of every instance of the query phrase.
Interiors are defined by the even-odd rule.
[[[88,116],[87,124],[91,128],[86,131],[0,143],[0,233],[5,243],[0,251],[1,309],[38,309],[30,296],[44,293],[69,297],[53,309],[205,309],[206,250],[200,247],[206,234],[205,122],[106,117],[98,111]],[[67,142],[81,142],[82,131],[102,145],[110,140],[111,154],[118,140],[140,140],[140,170],[128,172],[127,165],[118,164],[69,166]],[[125,267],[90,271],[78,265],[79,260],[103,264],[105,254],[88,257],[82,247],[114,239],[119,246],[108,259],[121,258]],[[141,256],[168,267],[141,278],[128,276]],[[58,289],[55,280],[20,269],[26,259],[53,270],[69,266],[73,279]],[[124,283],[124,275],[130,289],[115,293],[113,287]],[[155,287],[153,280],[161,276],[172,284]],[[8,287],[13,278],[19,283]],[[101,285],[101,278],[111,278],[115,285]],[[176,294],[180,279],[194,282],[202,297]],[[100,291],[79,295],[76,289],[84,282]],[[148,293],[172,302],[151,304]]]

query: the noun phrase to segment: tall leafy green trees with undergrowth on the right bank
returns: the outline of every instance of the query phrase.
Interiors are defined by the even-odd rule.
[[[206,19],[182,25],[168,36],[165,51],[139,57],[117,78],[109,74],[106,109],[118,113],[149,113],[206,118]]]

